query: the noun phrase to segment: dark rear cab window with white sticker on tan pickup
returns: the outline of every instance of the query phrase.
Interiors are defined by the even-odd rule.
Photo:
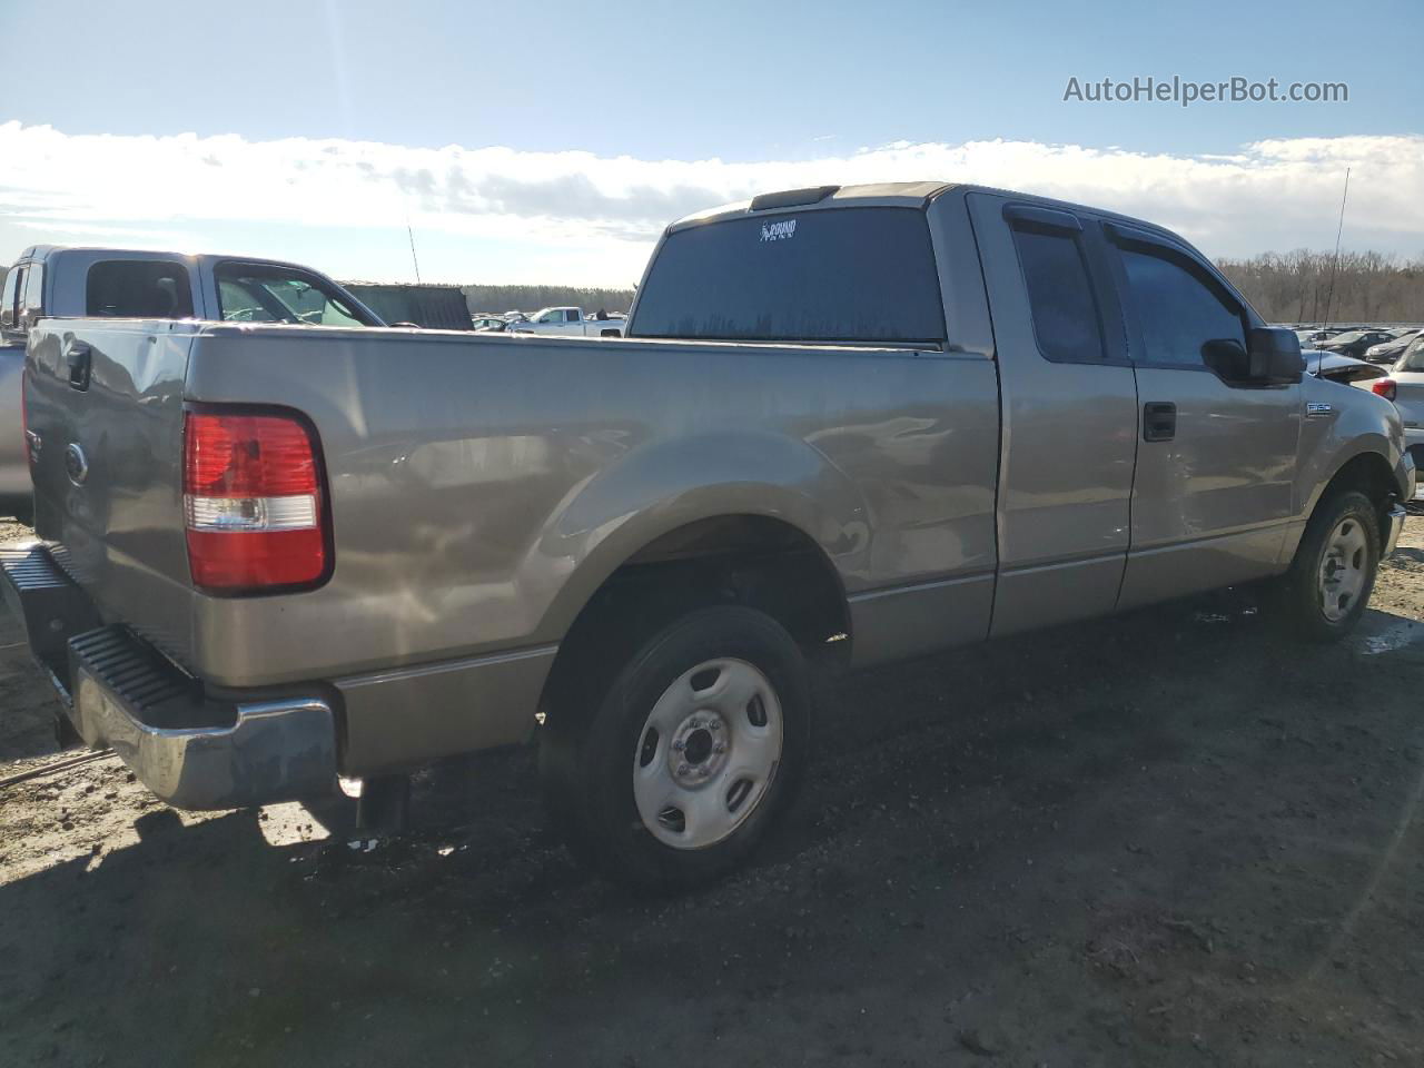
[[[832,208],[678,231],[648,272],[628,336],[940,343],[924,212]]]

